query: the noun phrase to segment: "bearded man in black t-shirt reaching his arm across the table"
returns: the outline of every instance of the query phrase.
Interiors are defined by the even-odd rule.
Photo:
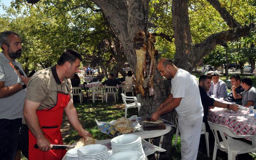
[[[205,123],[206,131],[210,132],[210,126],[207,122],[207,116],[208,116],[208,110],[212,109],[216,106],[220,108],[228,108],[233,111],[238,111],[238,105],[230,105],[226,103],[221,103],[219,101],[215,101],[213,98],[209,97],[206,93],[206,91],[209,91],[209,88],[211,87],[211,77],[208,75],[201,75],[199,78],[199,91],[200,91],[200,97],[202,101],[202,105],[204,108],[204,117],[203,122]]]

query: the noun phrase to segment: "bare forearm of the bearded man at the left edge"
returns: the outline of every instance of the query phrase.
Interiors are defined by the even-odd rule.
[[[8,86],[8,87],[2,87],[0,89],[0,98],[10,97],[22,89],[23,89],[23,87],[22,87],[21,83],[18,83],[16,85],[12,85],[12,86]]]

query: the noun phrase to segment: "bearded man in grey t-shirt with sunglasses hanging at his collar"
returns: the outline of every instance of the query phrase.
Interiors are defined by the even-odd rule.
[[[0,33],[0,158],[14,160],[29,78],[15,59],[22,53],[21,39],[12,31]]]

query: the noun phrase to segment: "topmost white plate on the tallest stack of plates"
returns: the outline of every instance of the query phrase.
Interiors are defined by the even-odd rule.
[[[141,137],[136,134],[122,134],[120,136],[117,136],[111,140],[111,144],[113,145],[129,145],[137,143],[138,141],[141,141]]]

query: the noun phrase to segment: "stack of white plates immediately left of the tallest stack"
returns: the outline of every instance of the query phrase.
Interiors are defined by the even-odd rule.
[[[78,148],[78,160],[107,160],[108,148],[101,144],[90,144]]]

